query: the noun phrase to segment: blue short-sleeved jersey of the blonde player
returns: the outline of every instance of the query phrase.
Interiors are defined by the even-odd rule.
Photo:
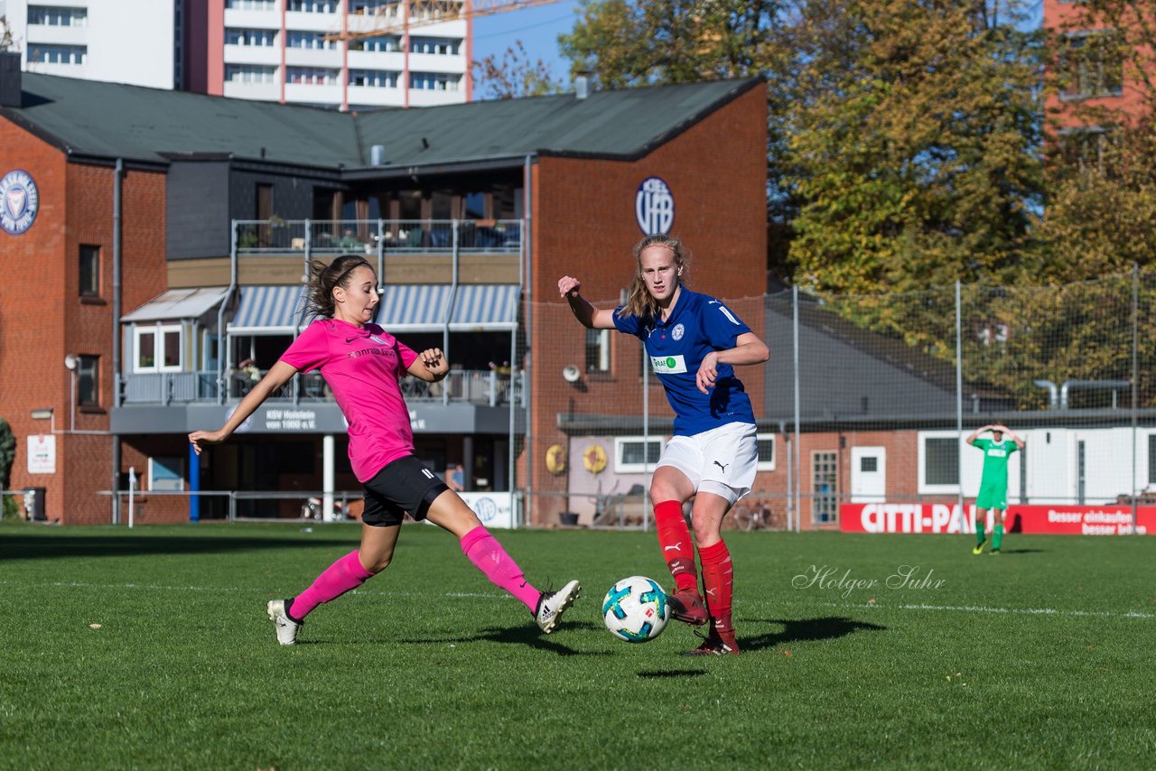
[[[651,365],[674,409],[675,436],[694,436],[725,423],[754,423],[755,413],[742,383],[729,364],[718,365],[718,378],[709,393],[698,390],[696,378],[703,359],[712,350],[734,348],[739,335],[750,332],[726,305],[686,287],[669,318],[623,316],[614,310],[614,326],[643,341]]]

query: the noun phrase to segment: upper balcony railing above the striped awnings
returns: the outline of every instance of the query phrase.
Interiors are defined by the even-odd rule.
[[[521,250],[520,220],[238,220],[238,254],[511,254]]]

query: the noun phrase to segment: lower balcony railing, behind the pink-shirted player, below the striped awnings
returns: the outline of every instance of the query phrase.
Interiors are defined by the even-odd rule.
[[[260,372],[264,376],[265,372]],[[257,380],[249,375],[227,376],[223,384],[224,401],[240,400]],[[401,380],[401,393],[407,402],[468,402],[490,407],[520,403],[525,393],[525,373],[517,377],[494,370],[451,370],[440,383],[427,383],[414,377]],[[511,387],[511,385],[513,387]],[[217,403],[217,373],[147,372],[120,377],[121,406]],[[333,393],[317,372],[295,375],[268,399],[276,402],[332,402]]]

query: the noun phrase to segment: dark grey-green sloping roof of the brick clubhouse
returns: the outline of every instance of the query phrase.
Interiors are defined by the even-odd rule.
[[[762,79],[342,113],[187,91],[22,74],[0,116],[74,156],[165,163],[173,155],[311,166],[423,166],[526,155],[636,158]],[[422,141],[424,139],[424,142]]]

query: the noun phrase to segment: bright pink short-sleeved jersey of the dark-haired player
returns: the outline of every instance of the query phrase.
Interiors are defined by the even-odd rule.
[[[338,319],[313,321],[281,356],[302,372],[320,368],[349,423],[349,461],[362,482],[414,452],[398,378],[416,358],[376,324],[357,327]]]

